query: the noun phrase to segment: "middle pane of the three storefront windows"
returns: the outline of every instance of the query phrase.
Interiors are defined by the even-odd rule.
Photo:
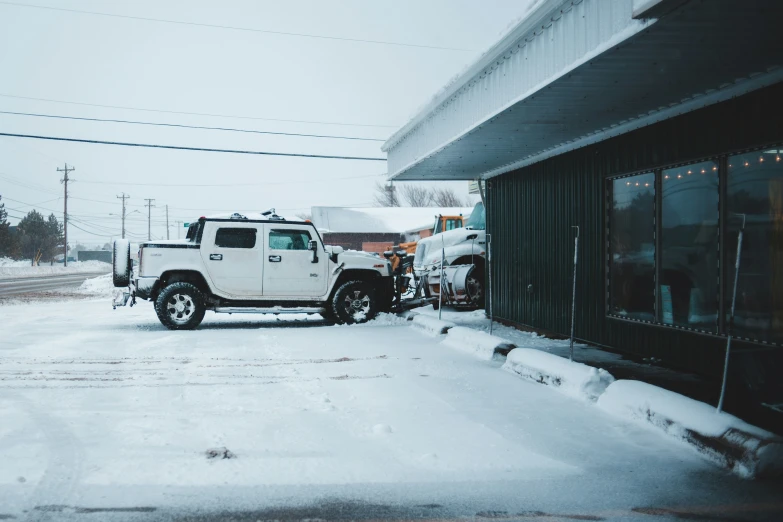
[[[718,163],[661,172],[658,321],[718,329]]]

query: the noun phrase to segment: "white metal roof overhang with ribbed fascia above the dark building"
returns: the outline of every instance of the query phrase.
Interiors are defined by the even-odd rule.
[[[783,1],[544,2],[387,141],[389,175],[487,178],[781,82],[781,20]]]

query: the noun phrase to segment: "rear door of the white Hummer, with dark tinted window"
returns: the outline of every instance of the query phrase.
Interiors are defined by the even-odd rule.
[[[207,221],[201,256],[212,284],[237,297],[261,297],[263,289],[263,225]]]

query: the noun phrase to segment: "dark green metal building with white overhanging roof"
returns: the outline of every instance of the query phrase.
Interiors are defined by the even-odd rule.
[[[486,182],[496,319],[568,335],[578,226],[578,339],[717,378],[731,331],[730,389],[781,403],[781,19],[541,2],[389,139],[389,174]]]

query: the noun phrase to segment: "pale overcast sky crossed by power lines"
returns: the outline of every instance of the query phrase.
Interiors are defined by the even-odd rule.
[[[35,0],[75,10],[338,38],[382,45],[143,21],[0,2],[0,111],[385,139],[494,43],[529,0]],[[18,98],[202,113],[171,114]],[[288,121],[279,121],[288,120]],[[296,121],[291,121],[296,120]],[[307,123],[305,123],[307,122]],[[321,122],[321,123],[316,123]],[[380,141],[270,136],[0,114],[0,132],[189,147],[385,157]],[[13,216],[62,216],[71,177],[69,243],[105,242],[127,227],[146,239],[176,221],[275,207],[371,206],[385,162],[186,152],[0,136],[0,194]],[[467,184],[452,186],[467,195]],[[83,198],[83,199],[78,199]],[[116,215],[110,215],[116,214]],[[81,227],[85,231],[76,229]]]

